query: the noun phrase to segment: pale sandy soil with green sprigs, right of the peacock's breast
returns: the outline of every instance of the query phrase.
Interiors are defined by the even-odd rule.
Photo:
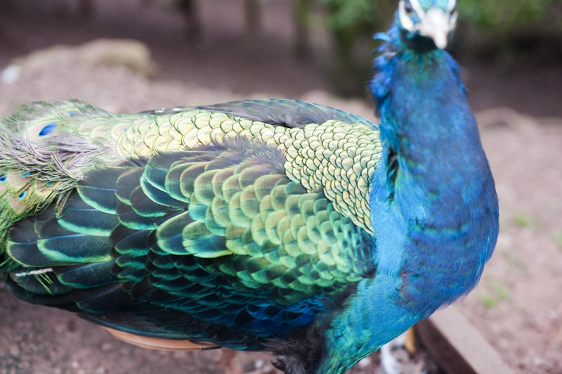
[[[462,312],[520,373],[562,373],[562,119],[511,110],[479,119],[500,235]]]

